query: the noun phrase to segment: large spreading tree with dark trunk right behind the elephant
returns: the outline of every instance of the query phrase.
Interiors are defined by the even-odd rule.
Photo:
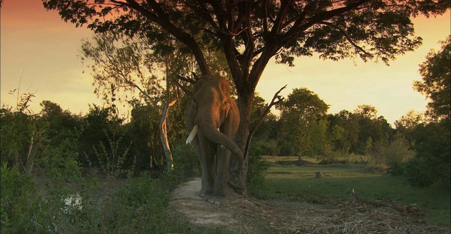
[[[202,74],[206,51],[221,48],[235,83],[245,149],[254,91],[269,60],[293,65],[294,56],[339,60],[360,57],[388,63],[421,44],[410,20],[444,13],[447,0],[43,0],[61,18],[97,32],[168,33],[190,49]],[[154,41],[155,42],[155,41]],[[152,42],[152,43],[154,43]],[[235,162],[232,162],[235,163]],[[230,182],[245,187],[247,163]]]

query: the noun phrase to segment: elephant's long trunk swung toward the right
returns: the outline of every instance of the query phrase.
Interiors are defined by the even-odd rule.
[[[202,119],[202,122],[199,121],[197,125],[199,126],[199,131],[202,131],[202,134],[204,134],[209,141],[219,145],[224,145],[224,147],[228,148],[228,150],[232,151],[233,154],[238,157],[240,162],[244,161],[243,154],[238,145],[218,130],[218,127],[214,124],[213,119],[206,121],[205,119]]]

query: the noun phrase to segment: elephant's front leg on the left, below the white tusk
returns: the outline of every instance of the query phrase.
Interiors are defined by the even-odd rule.
[[[204,197],[214,193],[214,178],[216,176],[214,148],[206,138],[202,137],[202,134],[199,134],[197,141],[199,145],[197,155],[199,155],[202,169],[202,188],[199,195]],[[196,143],[194,142],[194,144]]]

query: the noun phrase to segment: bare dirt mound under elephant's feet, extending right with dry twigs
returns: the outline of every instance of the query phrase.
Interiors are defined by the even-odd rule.
[[[169,209],[193,225],[226,226],[232,233],[450,233],[416,213],[357,201],[309,204],[230,195],[217,205],[204,202],[200,188],[196,178],[175,189]]]

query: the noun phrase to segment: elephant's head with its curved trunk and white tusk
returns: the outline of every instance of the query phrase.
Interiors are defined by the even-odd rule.
[[[193,130],[187,143],[194,138],[195,131],[199,131],[212,143],[223,145],[240,160],[243,159],[240,148],[231,139],[240,124],[240,112],[230,97],[230,85],[226,79],[214,76],[199,79],[194,85],[190,109],[188,121]]]

